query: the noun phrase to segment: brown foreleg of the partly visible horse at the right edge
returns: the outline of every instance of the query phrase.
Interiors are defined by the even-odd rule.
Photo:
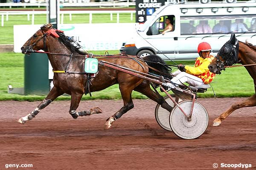
[[[227,118],[228,115],[230,115],[233,111],[239,108],[244,108],[244,107],[252,107],[256,106],[256,94],[251,96],[250,98],[243,100],[241,102],[236,102],[234,103],[227,111],[224,111],[220,116],[218,116],[217,119],[213,121],[212,126],[219,126],[221,125],[221,121]]]

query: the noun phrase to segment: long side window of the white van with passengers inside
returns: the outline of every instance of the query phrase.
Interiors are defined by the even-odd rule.
[[[252,32],[256,32],[256,14],[180,17],[181,35]]]

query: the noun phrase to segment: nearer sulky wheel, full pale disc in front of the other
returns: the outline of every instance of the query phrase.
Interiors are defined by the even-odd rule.
[[[189,116],[192,100],[182,101],[179,105]],[[177,136],[183,139],[195,139],[207,129],[209,116],[204,106],[195,102],[190,122],[177,106],[172,109],[169,120],[172,130]]]

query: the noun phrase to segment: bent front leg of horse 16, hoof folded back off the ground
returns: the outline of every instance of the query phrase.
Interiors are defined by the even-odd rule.
[[[90,116],[95,113],[102,113],[102,110],[98,107],[91,108],[89,111],[80,111],[77,112],[76,109],[79,106],[79,103],[81,101],[83,94],[79,93],[72,93],[71,94],[71,104],[70,104],[70,111],[69,113],[73,117],[73,119],[76,119],[78,116]]]

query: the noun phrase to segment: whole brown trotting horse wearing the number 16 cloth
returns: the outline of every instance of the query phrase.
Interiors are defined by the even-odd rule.
[[[49,61],[54,70],[54,87],[34,111],[20,118],[18,122],[24,124],[28,120],[31,120],[41,109],[45,108],[49,103],[64,93],[71,95],[69,113],[74,119],[78,116],[102,113],[97,107],[91,108],[88,111],[76,111],[81,97],[86,92],[86,89],[88,89],[87,76],[85,76],[83,71],[84,59],[87,53],[79,51],[79,47],[73,45],[73,43],[73,40],[65,36],[63,31],[53,29],[51,24],[45,24],[21,47],[23,54],[29,54],[35,50],[41,49],[47,52]],[[148,68],[148,65],[151,65],[155,69],[162,71],[164,77],[172,78],[171,75],[167,75],[167,73],[169,73],[168,68],[166,68],[165,65],[159,64],[164,63],[160,57],[151,56],[143,59],[145,62],[135,57],[112,56],[101,57],[99,60],[108,61],[143,73],[148,73],[148,70],[151,72],[151,69]],[[154,64],[154,62],[159,63]],[[132,91],[138,91],[160,104],[166,110],[172,111],[172,107],[167,104],[163,97],[151,90],[150,82],[121,71],[99,65],[99,71],[94,78],[91,78],[89,86],[90,91],[93,92],[103,90],[114,84],[119,84],[119,90],[124,105],[119,111],[113,114],[113,116],[107,119],[105,124],[106,129],[111,128],[114,121],[134,107],[131,98]]]

